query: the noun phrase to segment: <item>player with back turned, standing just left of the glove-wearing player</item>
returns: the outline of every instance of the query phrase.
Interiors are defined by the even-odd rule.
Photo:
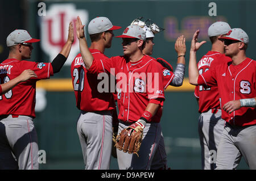
[[[95,59],[103,60],[105,48],[112,44],[113,26],[106,17],[97,17],[88,24],[92,44],[90,52]],[[109,77],[107,73],[102,73]],[[71,64],[71,77],[76,96],[76,106],[81,110],[77,121],[77,133],[81,143],[85,169],[109,169],[112,150],[112,125],[118,125],[118,119],[112,123],[115,103],[112,93],[98,90],[98,75],[89,74],[79,53]],[[109,81],[110,82],[110,81]],[[113,82],[114,83],[114,82]],[[111,86],[111,85],[110,85]],[[113,85],[114,86],[114,85]],[[117,117],[117,115],[116,115]]]

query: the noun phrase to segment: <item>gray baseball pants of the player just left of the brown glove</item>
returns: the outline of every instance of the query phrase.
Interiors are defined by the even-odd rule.
[[[109,169],[113,134],[111,111],[81,111],[77,121],[77,133],[85,169]]]

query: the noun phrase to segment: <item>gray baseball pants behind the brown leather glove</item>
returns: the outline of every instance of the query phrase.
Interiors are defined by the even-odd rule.
[[[118,134],[130,124],[119,122]],[[117,161],[120,170],[149,170],[151,169],[151,163],[155,155],[155,151],[158,148],[160,141],[162,128],[159,123],[146,124],[143,129],[143,137],[141,149],[138,154],[124,153],[123,150],[117,149]]]

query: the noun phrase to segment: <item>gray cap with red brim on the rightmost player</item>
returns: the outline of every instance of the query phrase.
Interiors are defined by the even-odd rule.
[[[228,32],[227,36],[219,38],[219,40],[225,40],[225,39],[238,40],[245,44],[249,43],[248,35],[241,28],[233,28]]]

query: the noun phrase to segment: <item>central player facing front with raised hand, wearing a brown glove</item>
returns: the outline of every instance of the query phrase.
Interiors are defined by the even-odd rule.
[[[123,38],[125,55],[94,60],[87,47],[84,26],[79,17],[76,25],[86,69],[93,74],[108,71],[113,73],[117,79],[118,133],[130,125],[143,129],[139,157],[117,150],[119,169],[150,169],[160,140],[159,121],[162,115],[164,91],[163,77],[159,74],[160,65],[154,58],[142,54],[142,46],[146,40],[145,32],[137,25],[127,27],[121,36],[117,36]],[[112,68],[113,70],[110,70]],[[130,132],[133,132],[133,128],[129,128]]]

